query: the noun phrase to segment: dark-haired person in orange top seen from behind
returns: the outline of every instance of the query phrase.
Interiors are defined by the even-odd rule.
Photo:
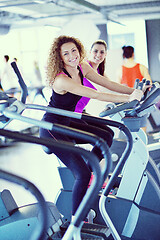
[[[119,82],[129,87],[134,87],[137,78],[140,81],[142,81],[143,78],[151,81],[148,68],[143,64],[135,62],[134,48],[132,46],[124,46],[122,50],[124,63],[119,72]]]

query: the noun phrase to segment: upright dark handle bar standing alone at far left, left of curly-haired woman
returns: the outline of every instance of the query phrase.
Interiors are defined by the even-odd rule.
[[[21,96],[21,102],[22,103],[25,103],[26,102],[26,98],[28,96],[28,89],[27,89],[27,86],[22,78],[22,75],[17,67],[17,64],[16,62],[12,62],[11,63],[11,66],[13,68],[13,70],[15,71],[17,77],[18,77],[18,82],[19,82],[19,85],[21,87],[21,91],[22,91],[22,96]]]

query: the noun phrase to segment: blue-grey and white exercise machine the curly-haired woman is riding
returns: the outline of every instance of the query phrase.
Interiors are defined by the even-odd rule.
[[[110,181],[112,182],[112,176],[117,169],[120,169],[118,173],[121,176],[117,178],[116,185],[110,184],[110,181],[108,183],[108,189],[115,189],[116,186],[115,194],[109,194],[104,190],[101,196],[97,196],[96,203],[91,207],[95,211],[94,223],[106,224],[101,214],[102,212],[104,215],[108,213],[118,233],[124,239],[158,240],[160,236],[160,173],[154,162],[149,161],[145,135],[140,129],[145,126],[146,119],[154,109],[154,104],[159,100],[159,96],[160,88],[157,88],[139,104],[137,102],[133,106],[131,103],[122,104],[115,109],[104,111],[100,115],[105,117],[123,112],[123,118],[121,119],[119,116],[119,120],[128,126],[133,137],[131,155],[124,166],[121,165],[121,160],[117,163]],[[129,110],[124,112],[125,109]],[[115,120],[117,121],[117,118]],[[107,124],[106,119],[99,119],[99,121]],[[68,174],[70,174],[69,171]],[[70,179],[74,180],[73,176]],[[71,184],[72,182],[69,187]],[[69,191],[68,189],[60,191],[56,205],[59,211],[66,214],[65,216],[68,218],[69,205],[61,205],[65,194],[67,194],[67,198],[71,197],[71,188]],[[99,200],[103,202],[102,212],[99,211]]]

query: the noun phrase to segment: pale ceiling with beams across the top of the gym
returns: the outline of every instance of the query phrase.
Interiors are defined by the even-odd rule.
[[[96,24],[160,19],[160,0],[0,0],[0,34],[31,26],[61,28],[73,18]]]

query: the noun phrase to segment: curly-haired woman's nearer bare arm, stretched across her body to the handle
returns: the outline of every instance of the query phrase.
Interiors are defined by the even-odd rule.
[[[85,96],[105,102],[129,102],[134,99],[140,100],[143,96],[143,92],[141,90],[135,90],[130,95],[98,92],[94,89],[78,84],[74,81],[74,79],[62,75],[56,77],[53,88],[54,91],[59,94],[70,92],[79,96]]]

